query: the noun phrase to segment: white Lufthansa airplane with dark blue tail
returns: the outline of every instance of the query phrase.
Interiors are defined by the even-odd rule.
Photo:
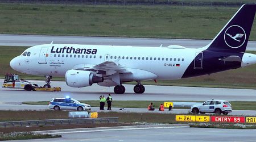
[[[178,80],[237,69],[256,63],[256,55],[245,53],[256,5],[242,5],[229,22],[202,48],[130,47],[113,45],[43,44],[26,49],[10,61],[14,70],[64,77],[71,87],[115,86],[125,93],[125,82],[136,81],[134,92],[142,94],[143,80]]]

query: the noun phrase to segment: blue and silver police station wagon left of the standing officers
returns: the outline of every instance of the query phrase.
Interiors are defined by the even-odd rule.
[[[49,108],[53,110],[77,110],[84,111],[90,110],[90,105],[85,103],[80,103],[76,99],[73,98],[53,98],[49,102]]]

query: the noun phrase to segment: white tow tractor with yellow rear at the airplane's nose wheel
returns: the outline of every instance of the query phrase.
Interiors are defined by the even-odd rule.
[[[39,87],[37,84],[32,84],[23,79],[19,79],[18,74],[7,73],[5,74],[5,81],[2,85],[3,88],[9,89],[24,89],[26,91],[61,91],[61,87]]]

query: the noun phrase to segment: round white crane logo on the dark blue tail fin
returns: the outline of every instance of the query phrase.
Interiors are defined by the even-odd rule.
[[[224,40],[230,48],[239,48],[245,43],[245,30],[238,25],[230,26],[225,31]]]

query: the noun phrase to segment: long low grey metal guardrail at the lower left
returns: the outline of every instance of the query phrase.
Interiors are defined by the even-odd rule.
[[[77,119],[48,119],[0,122],[0,128],[4,127],[32,127],[32,126],[54,126],[71,124],[94,124],[94,123],[117,123],[118,118],[77,118]]]

